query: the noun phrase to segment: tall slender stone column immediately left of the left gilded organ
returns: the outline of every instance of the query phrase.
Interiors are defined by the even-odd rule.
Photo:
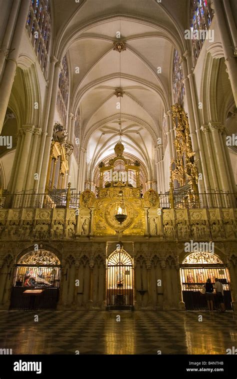
[[[47,127],[47,136],[45,139],[45,147],[43,152],[42,167],[39,179],[39,192],[44,193],[45,184],[46,184],[46,173],[48,167],[48,159],[50,154],[51,140],[52,140],[52,131],[53,131],[53,122],[54,114],[56,109],[56,100],[57,100],[57,88],[58,88],[58,77],[61,69],[61,63],[58,61],[55,64],[52,91],[51,91],[51,100],[50,100],[50,111],[48,116],[48,127]]]

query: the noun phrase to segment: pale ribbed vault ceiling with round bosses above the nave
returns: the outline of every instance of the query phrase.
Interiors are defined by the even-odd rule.
[[[176,9],[180,23],[185,3],[183,11]],[[64,12],[55,35],[69,62],[71,109],[74,113],[79,109],[90,180],[98,163],[113,153],[119,137],[125,151],[153,176],[154,147],[162,137],[163,113],[170,105],[172,34],[177,36],[180,27],[172,19],[173,1],[166,1],[166,6],[155,0],[86,0],[77,4],[78,9],[54,6],[57,20]],[[126,42],[121,53],[113,50],[117,31]],[[121,98],[114,94],[119,87],[124,92]]]

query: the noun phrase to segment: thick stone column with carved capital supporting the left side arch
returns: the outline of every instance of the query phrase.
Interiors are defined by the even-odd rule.
[[[17,179],[15,182],[15,192],[21,192],[23,190],[23,183],[26,175],[26,166],[28,162],[28,156],[29,156],[29,150],[30,150],[30,144],[31,144],[31,137],[33,134],[34,127],[32,126],[24,126],[24,142],[23,142],[23,148],[22,148],[22,154],[20,157],[20,164],[18,168],[17,173]]]

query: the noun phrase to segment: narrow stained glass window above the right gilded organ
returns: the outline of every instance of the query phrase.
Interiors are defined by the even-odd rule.
[[[182,66],[177,50],[173,53],[172,87],[174,103],[183,105],[184,85]]]

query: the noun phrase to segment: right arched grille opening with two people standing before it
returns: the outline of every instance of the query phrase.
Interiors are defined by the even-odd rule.
[[[182,299],[187,311],[205,310],[207,303],[205,296],[200,293],[207,278],[214,285],[218,278],[223,285],[224,303],[227,310],[232,310],[231,295],[229,291],[229,273],[226,265],[215,254],[207,252],[194,252],[189,254],[180,265],[182,284]],[[214,307],[219,305],[214,293]]]

